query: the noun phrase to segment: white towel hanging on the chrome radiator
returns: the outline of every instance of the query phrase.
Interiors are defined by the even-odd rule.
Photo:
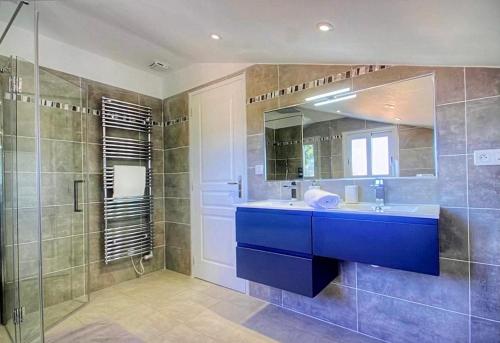
[[[146,188],[146,167],[114,166],[113,198],[138,197]]]

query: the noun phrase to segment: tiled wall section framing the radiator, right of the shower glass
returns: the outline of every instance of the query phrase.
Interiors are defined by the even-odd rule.
[[[155,123],[163,122],[162,101],[150,96],[102,83],[84,80],[84,89],[88,92],[88,107],[100,108],[101,97],[107,96],[118,100],[137,103],[152,108]],[[136,273],[130,259],[124,259],[105,265],[103,262],[103,214],[102,214],[102,126],[100,116],[87,116],[89,166],[89,245],[90,245],[90,288],[97,290],[113,284],[133,279]],[[153,207],[154,207],[154,257],[146,261],[146,272],[164,268],[165,261],[165,222],[163,192],[163,127],[153,125]]]

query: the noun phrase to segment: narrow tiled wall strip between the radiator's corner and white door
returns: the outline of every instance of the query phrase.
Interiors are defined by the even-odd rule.
[[[188,94],[163,101],[165,149],[165,266],[191,274]]]

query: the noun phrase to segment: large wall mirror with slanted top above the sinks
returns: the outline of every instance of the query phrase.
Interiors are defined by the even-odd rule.
[[[433,75],[264,116],[268,180],[436,176]]]

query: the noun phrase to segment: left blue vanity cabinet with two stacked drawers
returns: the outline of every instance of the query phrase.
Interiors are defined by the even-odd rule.
[[[312,255],[312,212],[240,207],[238,277],[314,297],[337,276],[337,261]]]

